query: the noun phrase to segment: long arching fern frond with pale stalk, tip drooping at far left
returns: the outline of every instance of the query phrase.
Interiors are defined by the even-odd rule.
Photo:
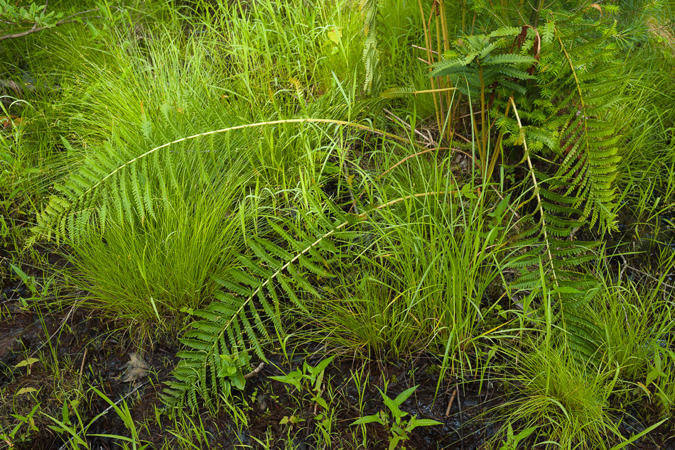
[[[141,221],[146,216],[155,217],[152,182],[157,180],[161,187],[159,197],[165,202],[171,187],[178,190],[176,163],[167,148],[202,136],[279,124],[334,124],[409,142],[406,138],[372,126],[335,119],[284,119],[230,126],[175,139],[136,156],[126,150],[126,143],[113,136],[112,142],[116,143],[117,149],[112,142],[104,143],[103,148],[87,159],[77,173],[70,175],[68,181],[55,186],[60,194],[51,196],[47,206],[38,214],[37,225],[32,229],[33,241],[41,235],[47,239],[53,237],[56,241],[77,241],[87,234],[92,222],[103,229],[109,214],[117,214],[118,221],[129,224],[133,224],[136,217]]]

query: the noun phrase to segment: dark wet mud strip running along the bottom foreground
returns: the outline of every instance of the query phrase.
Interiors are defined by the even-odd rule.
[[[500,381],[486,378],[480,383],[473,378],[446,377],[439,385],[438,367],[431,359],[382,363],[343,357],[333,360],[325,369],[320,393],[330,405],[325,410],[313,399],[315,392],[298,391],[271,378],[302,371],[305,362],[317,366],[325,355],[315,353],[313,346],[304,349],[306,353],[298,349],[302,356],[293,358],[291,363],[281,356],[271,356],[270,363],[247,382],[245,390],[235,392],[228,400],[237,414],[221,402],[217,414],[201,408],[178,419],[157,416],[156,410],[162,407],[159,397],[162,383],[171,380],[171,370],[178,363],[177,347],[156,344],[151,353],[139,353],[148,366],[144,369],[147,373],[124,381],[128,378],[129,362],[134,359],[132,355],[139,349],[125,344],[107,329],[107,324],[92,317],[92,312],[38,316],[22,310],[18,300],[8,308],[13,312],[3,314],[0,319],[4,352],[0,367],[0,422],[4,429],[16,424],[12,414],[26,417],[38,404],[41,412],[63,420],[65,404],[70,423],[77,424],[80,415],[87,426],[85,439],[91,449],[119,448],[119,439],[92,436],[129,437],[129,429],[109,402],[93,392],[95,387],[118,406],[123,405],[119,400],[124,399],[139,439],[150,444],[148,448],[183,448],[178,445],[180,438],[176,435],[179,435],[193,442],[190,448],[198,449],[351,449],[363,443],[360,427],[352,423],[360,417],[387,411],[380,390],[386,390],[386,395],[393,399],[418,386],[400,406],[407,413],[404,418],[416,416],[436,420],[441,425],[414,429],[405,441],[406,448],[478,450],[497,449],[502,443],[502,439],[494,439],[502,426],[499,413],[503,411],[499,407],[507,400]],[[53,336],[53,351],[47,344],[48,336]],[[30,371],[28,365],[17,367],[31,357],[38,357],[39,361],[30,364]],[[107,412],[94,420],[104,411]],[[318,439],[322,414],[333,415],[330,446]],[[653,423],[644,412],[641,416],[634,410],[617,412],[617,420],[625,437],[644,430],[644,424]],[[55,422],[40,414],[35,415],[34,424],[35,430],[29,429],[29,424],[23,425],[26,441],[13,441],[16,449],[68,448],[65,444],[70,435],[51,429]],[[388,448],[386,427],[377,423],[365,427],[367,449]],[[81,429],[78,432],[85,437]],[[534,441],[530,444],[534,445]],[[630,448],[675,449],[675,439],[665,424]]]

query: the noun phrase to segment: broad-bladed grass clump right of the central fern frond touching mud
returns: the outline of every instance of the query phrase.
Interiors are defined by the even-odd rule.
[[[325,317],[320,328],[336,343],[379,358],[423,349],[445,352],[446,358],[468,354],[462,349],[479,334],[483,312],[495,305],[490,290],[501,281],[508,236],[501,225],[509,212],[503,204],[488,207],[485,192],[477,197],[453,189],[440,167],[426,185],[431,195],[372,216],[356,244],[356,268],[343,273],[335,295],[312,306]],[[392,198],[408,193],[388,190]]]

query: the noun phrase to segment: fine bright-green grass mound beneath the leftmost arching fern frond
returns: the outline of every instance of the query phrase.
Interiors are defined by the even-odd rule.
[[[212,298],[210,273],[227,267],[240,244],[235,198],[234,190],[193,192],[156,220],[110,224],[75,243],[72,282],[89,292],[85,304],[136,337],[180,328],[184,312]]]

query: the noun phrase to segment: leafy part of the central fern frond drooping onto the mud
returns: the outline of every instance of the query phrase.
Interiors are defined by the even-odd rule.
[[[229,394],[230,384],[242,388],[251,353],[266,361],[261,341],[269,339],[267,323],[282,339],[282,305],[306,312],[304,299],[320,298],[318,285],[331,277],[332,267],[340,267],[336,260],[345,256],[340,239],[349,237],[344,229],[354,221],[325,207],[326,212],[315,207],[300,214],[298,222],[269,219],[269,232],[249,239],[251,254],[238,256],[240,268],[215,278],[223,289],[217,300],[193,313],[200,320],[180,339],[188,349],[178,353],[176,381],[168,382],[163,394],[166,405],[187,400],[194,409],[199,397],[211,404],[218,393]]]

